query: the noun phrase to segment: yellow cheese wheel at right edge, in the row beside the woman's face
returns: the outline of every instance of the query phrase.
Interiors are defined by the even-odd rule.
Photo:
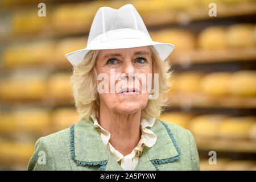
[[[235,96],[255,96],[256,72],[246,70],[235,72],[230,79],[229,92]]]

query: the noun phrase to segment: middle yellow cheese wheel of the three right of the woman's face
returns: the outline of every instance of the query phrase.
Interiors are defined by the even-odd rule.
[[[232,73],[213,72],[201,79],[200,90],[209,96],[225,96],[229,93],[229,82]]]

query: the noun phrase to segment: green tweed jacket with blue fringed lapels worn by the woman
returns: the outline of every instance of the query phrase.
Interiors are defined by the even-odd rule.
[[[158,138],[151,148],[144,146],[135,170],[200,170],[196,143],[189,130],[158,119],[151,130]],[[27,169],[123,170],[106,150],[91,118],[39,138]]]

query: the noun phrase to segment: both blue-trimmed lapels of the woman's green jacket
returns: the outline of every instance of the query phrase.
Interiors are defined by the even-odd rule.
[[[158,164],[174,162],[180,158],[180,149],[166,123],[156,119],[151,130],[158,139],[151,148],[144,147],[135,170],[158,170]],[[92,118],[81,119],[71,126],[70,131],[71,156],[79,166],[100,166],[100,170],[122,170],[106,150],[100,133],[93,127]],[[163,146],[168,150],[163,150]]]

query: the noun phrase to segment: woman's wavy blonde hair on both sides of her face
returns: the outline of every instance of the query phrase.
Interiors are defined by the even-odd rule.
[[[142,110],[141,118],[159,117],[163,107],[167,105],[166,93],[170,89],[168,80],[172,75],[170,62],[168,60],[162,61],[155,48],[153,46],[149,47],[153,73],[159,74],[159,97],[156,100],[148,100],[146,107]],[[97,93],[97,72],[95,68],[98,52],[99,50],[89,51],[84,61],[73,67],[71,86],[80,119],[88,118],[93,113],[97,114],[99,109],[100,101]]]

